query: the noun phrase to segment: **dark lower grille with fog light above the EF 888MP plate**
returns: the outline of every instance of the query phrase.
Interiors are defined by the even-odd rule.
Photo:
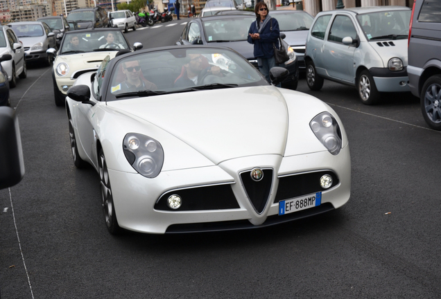
[[[320,178],[325,174],[332,176],[331,188],[338,185],[338,176],[331,170],[280,177],[279,188],[277,188],[274,203],[306,194],[329,190],[323,189],[320,186]]]

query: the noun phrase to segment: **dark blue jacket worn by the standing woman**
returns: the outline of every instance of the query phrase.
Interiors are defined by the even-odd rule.
[[[254,44],[254,57],[273,57],[273,43],[279,48],[279,23],[277,22],[277,19],[271,18],[261,30],[261,33],[259,34],[260,39],[252,39],[250,33],[259,33],[259,26],[257,25],[259,22],[260,18],[257,18],[256,21],[252,22],[250,30],[248,30],[248,42]]]

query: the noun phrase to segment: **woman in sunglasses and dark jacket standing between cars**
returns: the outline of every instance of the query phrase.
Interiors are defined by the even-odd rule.
[[[257,19],[248,30],[248,42],[254,44],[259,70],[270,82],[270,69],[275,66],[273,44],[279,48],[279,23],[268,14],[268,6],[263,1],[257,3],[254,13]]]

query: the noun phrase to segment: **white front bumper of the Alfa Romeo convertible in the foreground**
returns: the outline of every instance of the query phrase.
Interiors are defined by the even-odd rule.
[[[275,155],[238,158],[225,162],[225,167],[230,169],[234,163],[234,167],[238,170],[251,169],[255,165],[277,165],[273,164],[279,161],[277,159],[280,157]],[[332,156],[329,152],[315,152],[283,158],[282,163],[279,163],[279,169],[276,169],[278,174],[273,176],[270,196],[261,214],[258,214],[250,203],[247,192],[243,189],[239,171],[230,175],[222,169],[222,166],[162,172],[155,179],[146,179],[135,173],[109,170],[119,226],[141,233],[156,234],[260,228],[333,210],[349,200],[351,166],[348,146],[337,156]],[[320,170],[330,170],[338,176],[338,183],[335,186],[328,190],[313,191],[322,191],[322,204],[315,208],[279,216],[279,203],[275,190],[282,189],[279,185],[282,176],[303,175]],[[166,193],[178,193],[182,189],[191,190],[209,185],[231,187],[236,207],[182,211],[157,209],[158,200]],[[299,186],[293,187],[295,188]],[[182,197],[183,202],[186,200],[186,197]],[[211,201],[212,198],[207,196],[204,200]]]

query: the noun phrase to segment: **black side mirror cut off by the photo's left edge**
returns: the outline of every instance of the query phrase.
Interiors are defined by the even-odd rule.
[[[16,185],[24,176],[23,150],[14,109],[0,107],[0,189]]]

